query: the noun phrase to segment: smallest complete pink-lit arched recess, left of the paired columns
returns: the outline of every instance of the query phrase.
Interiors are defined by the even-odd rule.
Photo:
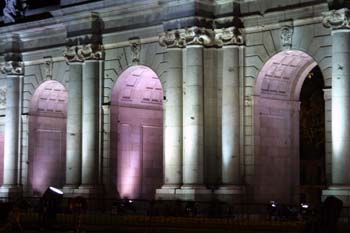
[[[34,195],[65,180],[67,91],[46,81],[35,91],[29,110],[29,181]]]

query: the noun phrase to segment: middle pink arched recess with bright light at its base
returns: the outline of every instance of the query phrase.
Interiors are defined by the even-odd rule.
[[[153,199],[163,177],[163,90],[148,67],[132,66],[111,100],[111,150],[120,197]]]

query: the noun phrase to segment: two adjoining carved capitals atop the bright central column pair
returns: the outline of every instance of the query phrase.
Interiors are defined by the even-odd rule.
[[[199,27],[177,29],[162,33],[159,36],[159,43],[168,48],[184,48],[187,45],[211,46],[213,31]]]

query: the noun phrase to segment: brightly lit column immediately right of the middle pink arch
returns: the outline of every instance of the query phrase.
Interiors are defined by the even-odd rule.
[[[171,33],[171,32],[170,32]],[[182,48],[161,35],[160,44],[167,47],[168,75],[164,86],[163,159],[164,183],[157,197],[174,197],[182,184]],[[171,198],[171,197],[170,197]]]

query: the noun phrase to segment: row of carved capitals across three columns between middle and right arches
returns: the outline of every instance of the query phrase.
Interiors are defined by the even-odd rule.
[[[161,46],[168,48],[185,48],[188,45],[222,47],[225,45],[242,45],[243,36],[236,27],[221,29],[190,27],[161,33],[159,43]]]

